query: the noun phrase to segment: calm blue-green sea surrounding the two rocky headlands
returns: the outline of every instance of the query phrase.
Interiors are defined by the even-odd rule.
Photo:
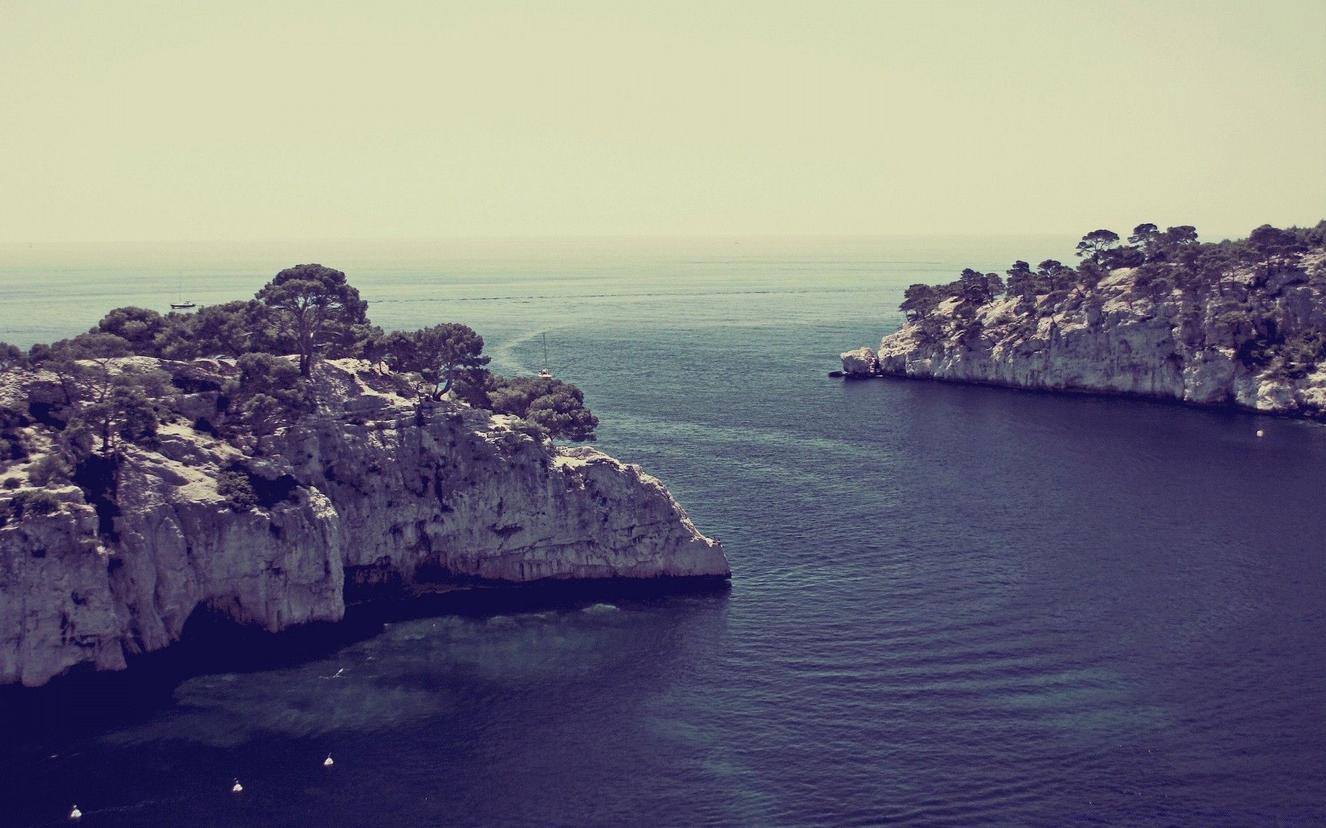
[[[1326,428],[825,376],[907,284],[1070,250],[0,249],[21,344],[298,261],[345,269],[385,327],[473,326],[503,372],[546,333],[601,448],[733,568],[729,594],[403,620],[126,715],[11,717],[0,824],[1326,824]]]

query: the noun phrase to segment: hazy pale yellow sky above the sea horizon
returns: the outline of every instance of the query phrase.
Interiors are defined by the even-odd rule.
[[[0,241],[1212,238],[1323,147],[1323,0],[0,0]]]

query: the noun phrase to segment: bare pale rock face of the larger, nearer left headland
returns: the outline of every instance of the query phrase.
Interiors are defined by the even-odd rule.
[[[339,620],[347,597],[385,590],[729,574],[719,542],[639,466],[549,450],[511,417],[463,404],[418,411],[353,360],[314,379],[317,412],[298,425],[227,442],[166,424],[155,444],[125,449],[110,501],[48,485],[42,509],[11,509],[0,682],[41,685],[81,662],[123,669],[127,654],[178,640],[200,607],[274,632]],[[0,391],[40,399],[50,384],[12,374]],[[174,404],[192,419],[215,413],[216,395]],[[16,481],[0,505],[36,492],[29,472],[49,435],[29,431],[38,450],[0,472]],[[228,476],[247,478],[259,505],[219,492]]]

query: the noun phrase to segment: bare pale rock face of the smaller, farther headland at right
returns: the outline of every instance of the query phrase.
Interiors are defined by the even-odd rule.
[[[884,336],[878,354],[843,354],[843,370],[1326,419],[1326,362],[1249,358],[1268,333],[1281,343],[1326,334],[1323,258],[1306,256],[1264,282],[1229,273],[1200,294],[1158,291],[1139,270],[1119,269],[1065,297],[1004,297],[975,310],[949,298]]]

